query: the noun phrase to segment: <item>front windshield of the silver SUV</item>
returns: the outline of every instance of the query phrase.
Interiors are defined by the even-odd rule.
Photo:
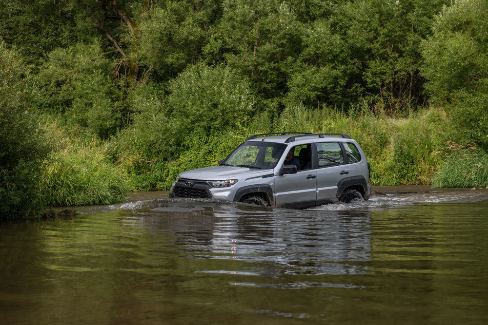
[[[286,145],[262,141],[244,142],[234,150],[222,165],[255,169],[272,169],[285,151]]]

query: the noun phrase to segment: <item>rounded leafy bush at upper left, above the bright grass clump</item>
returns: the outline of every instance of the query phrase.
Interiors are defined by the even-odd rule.
[[[123,126],[128,114],[122,92],[109,76],[110,61],[96,43],[56,49],[36,75],[39,109],[62,117],[66,125],[106,139]]]

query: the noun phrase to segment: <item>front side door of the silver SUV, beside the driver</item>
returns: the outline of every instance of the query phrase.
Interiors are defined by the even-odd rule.
[[[312,147],[311,144],[306,146]],[[294,155],[298,157],[300,149],[303,147],[304,145],[293,147]],[[283,167],[283,163],[281,167]],[[275,176],[275,206],[277,208],[303,209],[315,205],[317,171],[313,168],[300,170],[300,166],[298,169],[296,174],[278,174]]]

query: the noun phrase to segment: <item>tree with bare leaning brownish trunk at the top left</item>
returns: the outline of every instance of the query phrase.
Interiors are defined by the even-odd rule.
[[[105,38],[116,76],[134,87],[167,80],[198,61],[218,1],[77,0]],[[114,19],[114,18],[117,19]]]

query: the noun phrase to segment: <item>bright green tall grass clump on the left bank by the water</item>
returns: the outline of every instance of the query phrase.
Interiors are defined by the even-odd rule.
[[[82,137],[80,127],[43,118],[53,153],[41,175],[44,204],[51,207],[120,203],[133,190],[107,141]]]

